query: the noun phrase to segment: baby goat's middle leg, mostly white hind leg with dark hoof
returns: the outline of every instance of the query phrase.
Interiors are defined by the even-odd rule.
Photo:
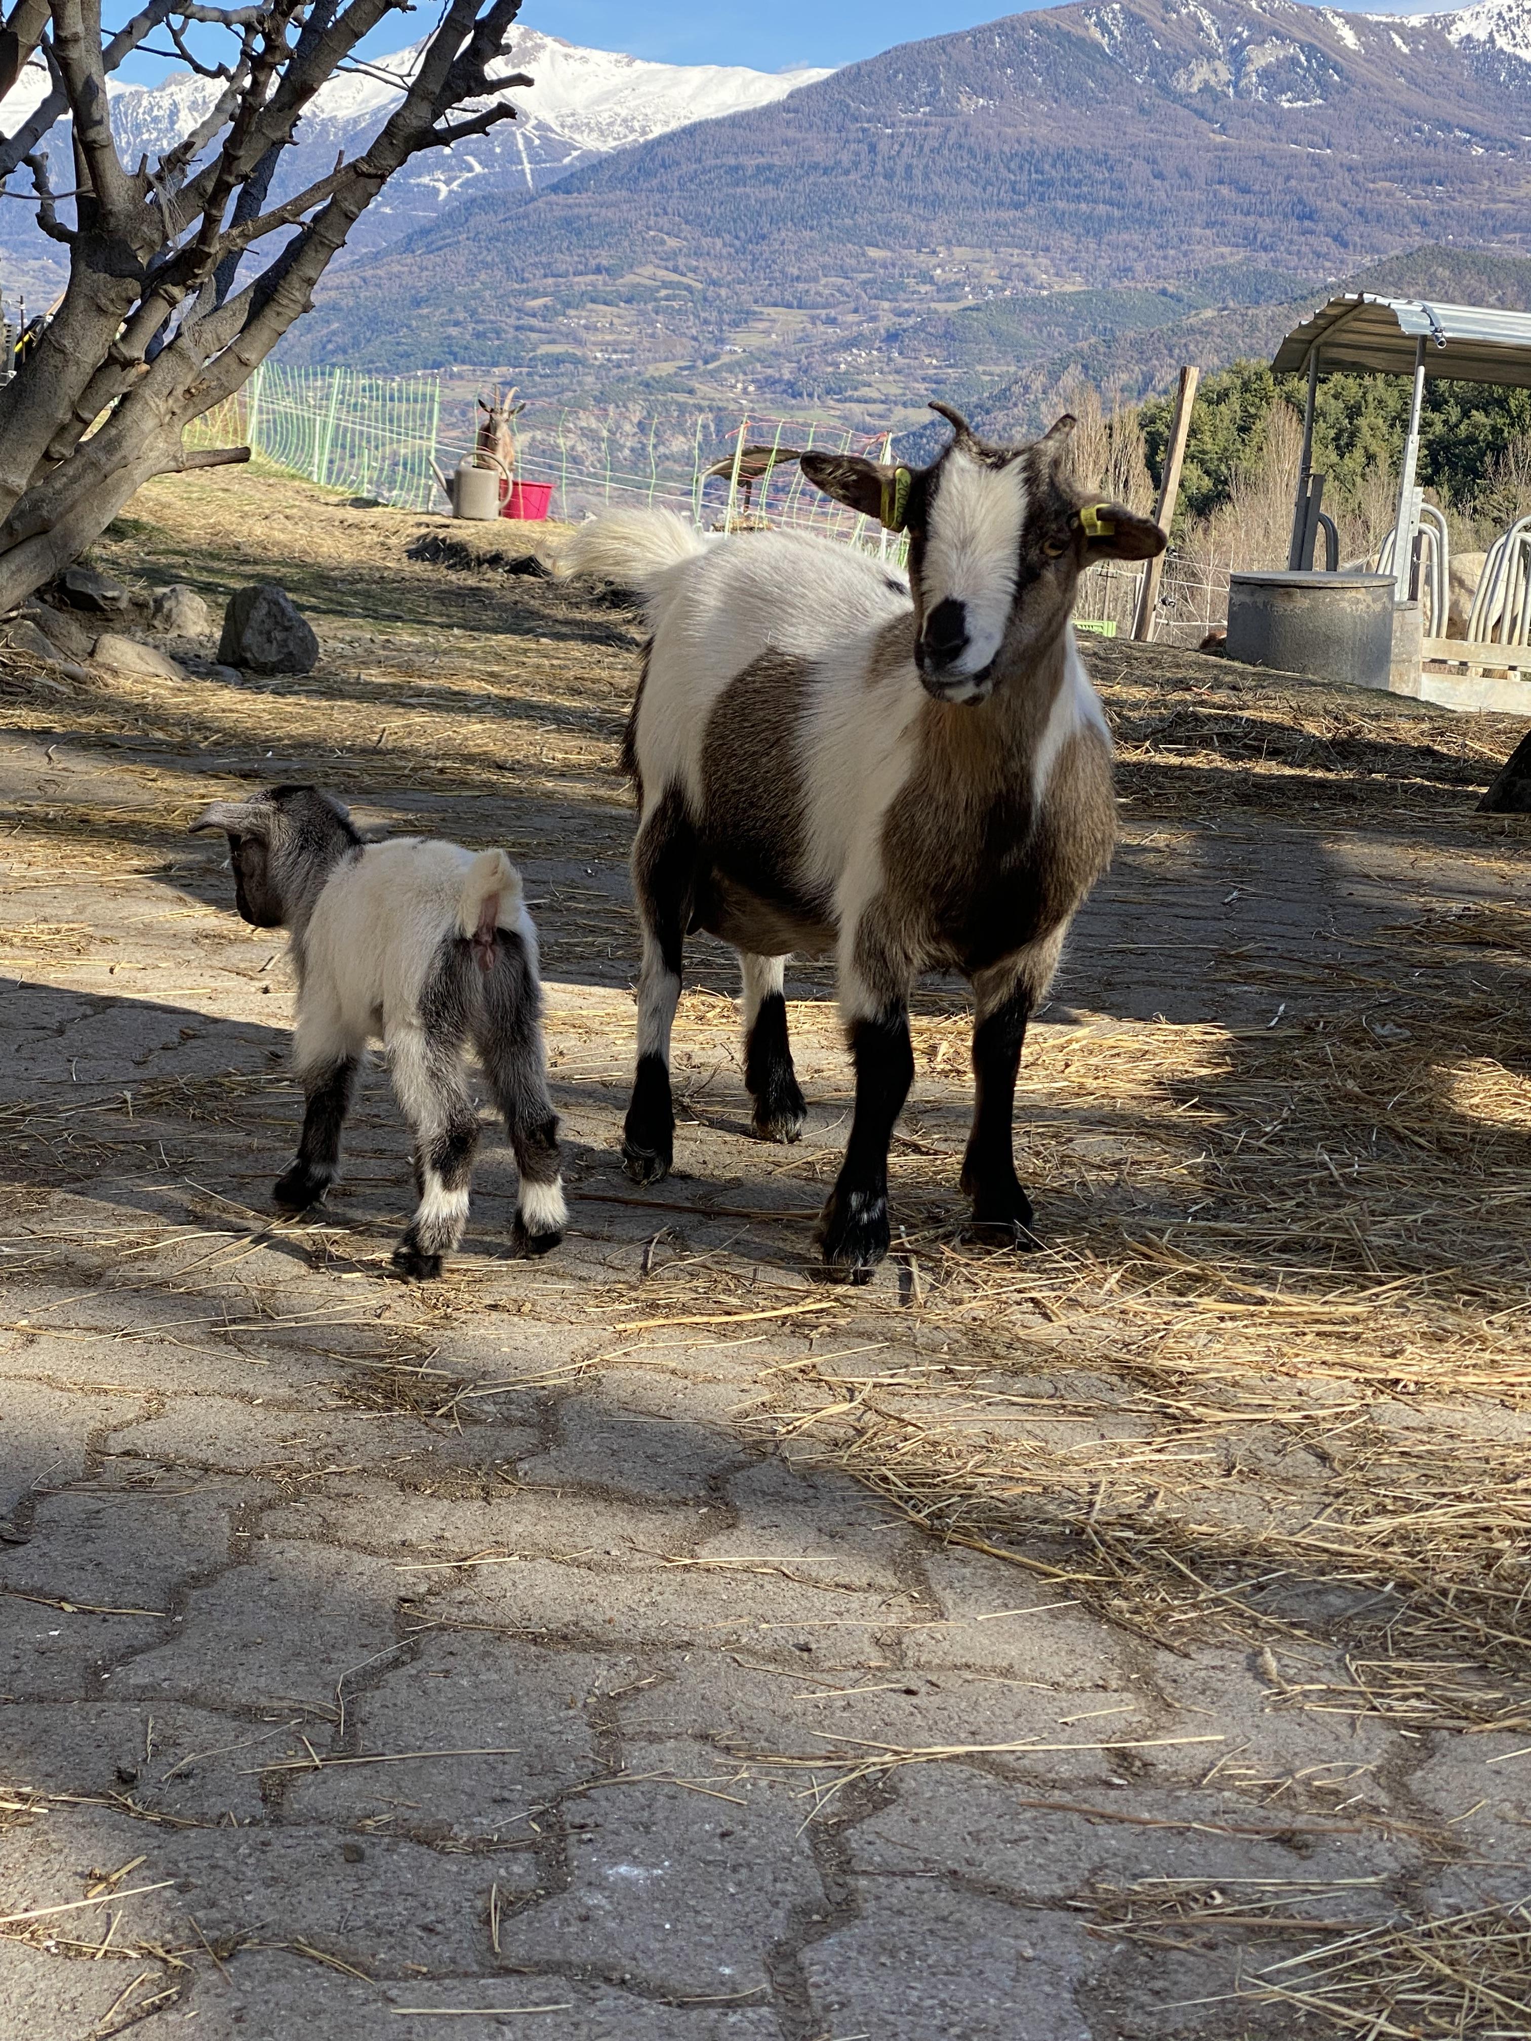
[[[478,1114],[463,1084],[459,1014],[437,1012],[433,1018],[437,1027],[402,1027],[388,1035],[388,1074],[414,1133],[414,1184],[421,1194],[394,1249],[394,1267],[400,1276],[421,1278],[439,1276],[443,1255],[463,1237],[478,1147]]]

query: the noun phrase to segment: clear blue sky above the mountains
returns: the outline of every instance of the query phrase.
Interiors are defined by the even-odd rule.
[[[1431,0],[1362,4],[1372,14],[1413,14]],[[129,0],[116,0],[116,6],[108,0],[104,12],[114,24],[133,8]],[[776,0],[763,8],[741,6],[739,0],[723,0],[721,6],[698,6],[696,0],[527,0],[521,18],[567,43],[623,49],[659,63],[747,63],[757,71],[784,71],[800,63],[853,63],[894,43],[949,35],[1013,12],[1027,8],[1006,6],[1004,0]],[[390,16],[361,47],[372,55],[402,49],[433,20],[435,8],[421,0],[412,12]],[[151,86],[178,67],[165,57],[135,55],[118,76]]]

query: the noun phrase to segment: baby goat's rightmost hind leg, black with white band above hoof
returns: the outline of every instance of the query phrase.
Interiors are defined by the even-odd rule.
[[[563,1180],[557,1155],[557,1114],[547,1094],[541,990],[518,935],[500,931],[494,963],[484,974],[484,1014],[474,1045],[504,1114],[516,1151],[514,1245],[545,1255],[563,1239]]]

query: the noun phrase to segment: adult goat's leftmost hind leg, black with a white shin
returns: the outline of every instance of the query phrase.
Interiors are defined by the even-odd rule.
[[[635,1184],[657,1184],[676,1159],[670,1096],[670,1029],[680,1002],[680,967],[696,886],[696,831],[672,788],[645,816],[633,845],[633,894],[643,923],[639,969],[639,1053],[623,1125],[623,1161]]]

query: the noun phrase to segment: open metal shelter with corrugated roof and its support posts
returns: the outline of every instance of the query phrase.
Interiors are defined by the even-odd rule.
[[[1292,516],[1292,567],[1313,563],[1313,531],[1319,520],[1319,502],[1313,494],[1313,400],[1319,369],[1374,369],[1382,376],[1415,378],[1392,553],[1398,600],[1406,600],[1419,529],[1415,471],[1425,378],[1443,376],[1531,390],[1531,312],[1496,312],[1484,304],[1433,304],[1425,298],[1374,298],[1370,292],[1345,294],[1331,298],[1294,327],[1276,349],[1272,367],[1276,374],[1306,369],[1308,378],[1302,476]]]

